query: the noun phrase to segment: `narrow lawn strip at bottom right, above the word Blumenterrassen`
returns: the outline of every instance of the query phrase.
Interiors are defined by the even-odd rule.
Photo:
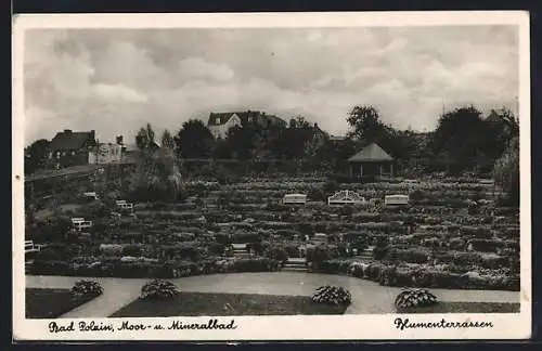
[[[519,313],[519,303],[439,302],[425,308],[403,309],[398,313]]]

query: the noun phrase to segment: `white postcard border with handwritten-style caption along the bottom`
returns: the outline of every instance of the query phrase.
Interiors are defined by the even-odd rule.
[[[525,339],[531,335],[531,179],[530,179],[530,57],[527,12],[371,12],[371,13],[251,13],[251,14],[49,14],[13,20],[13,338],[16,340],[382,340],[382,339]],[[517,25],[519,28],[520,118],[520,313],[517,314],[369,314],[340,316],[235,316],[235,329],[49,333],[53,320],[24,315],[24,31],[30,28],[255,28],[359,27],[436,25]],[[415,328],[400,330],[396,320],[411,322],[480,321],[492,328]],[[207,323],[214,317],[54,320],[75,324],[94,321],[119,327],[122,321],[146,325]]]

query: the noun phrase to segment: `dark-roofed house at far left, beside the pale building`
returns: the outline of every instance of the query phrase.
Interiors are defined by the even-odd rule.
[[[51,141],[49,159],[61,167],[88,165],[89,155],[96,146],[94,130],[74,132],[65,129]]]

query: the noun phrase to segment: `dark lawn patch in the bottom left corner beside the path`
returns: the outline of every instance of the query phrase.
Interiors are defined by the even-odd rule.
[[[27,318],[56,318],[92,300],[74,299],[69,289],[27,288],[25,295]]]

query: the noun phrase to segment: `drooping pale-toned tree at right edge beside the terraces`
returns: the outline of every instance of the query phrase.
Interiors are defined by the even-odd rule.
[[[519,205],[519,138],[512,139],[493,170],[495,184],[500,185],[514,204]]]

